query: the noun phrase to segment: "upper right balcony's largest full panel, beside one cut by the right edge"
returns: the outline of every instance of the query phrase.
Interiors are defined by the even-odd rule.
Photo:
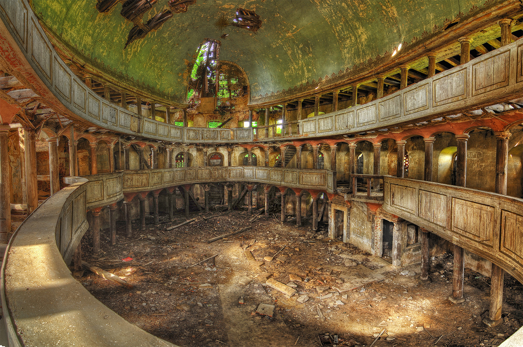
[[[472,95],[508,86],[510,51],[472,65]]]

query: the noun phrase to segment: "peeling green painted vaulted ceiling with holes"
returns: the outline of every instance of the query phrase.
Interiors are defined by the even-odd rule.
[[[251,97],[271,94],[354,64],[391,53],[399,43],[420,38],[435,25],[485,0],[198,0],[158,30],[123,46],[134,26],[120,16],[121,4],[100,14],[94,0],[32,0],[53,35],[93,66],[158,96],[185,101],[187,64],[205,38],[221,40],[220,60],[240,65]],[[221,31],[214,22],[234,18],[237,7],[255,10],[257,33],[237,27]],[[144,21],[168,9],[158,0]],[[222,33],[228,33],[220,39]]]

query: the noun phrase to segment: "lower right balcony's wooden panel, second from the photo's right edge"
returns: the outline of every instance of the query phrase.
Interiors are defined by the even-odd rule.
[[[452,231],[492,246],[494,207],[452,197]]]

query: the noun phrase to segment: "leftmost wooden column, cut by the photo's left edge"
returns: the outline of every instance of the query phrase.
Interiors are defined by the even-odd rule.
[[[9,173],[9,125],[0,125],[0,244],[11,232],[11,175]]]

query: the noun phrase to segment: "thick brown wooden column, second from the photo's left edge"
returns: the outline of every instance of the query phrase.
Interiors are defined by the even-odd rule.
[[[1,130],[0,130],[1,131]],[[71,141],[69,141],[71,144]],[[6,147],[7,149],[7,147]],[[71,154],[71,146],[69,147]],[[26,194],[27,194],[27,213],[31,213],[38,207],[38,180],[36,175],[36,137],[35,129],[24,128],[24,158],[25,158],[25,176],[26,176]],[[72,167],[70,161],[70,167]],[[71,176],[74,175],[74,167]],[[3,196],[0,196],[3,199]]]

